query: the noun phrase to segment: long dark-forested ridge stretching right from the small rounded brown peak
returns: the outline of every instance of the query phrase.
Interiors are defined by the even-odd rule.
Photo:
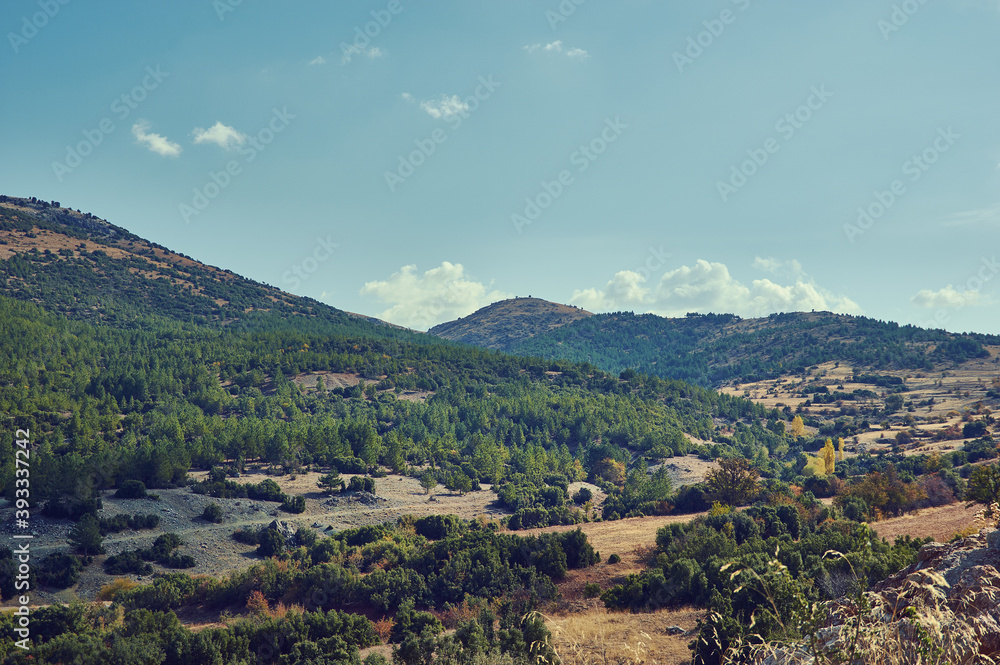
[[[525,314],[529,313],[519,315],[519,326],[530,331]],[[957,335],[830,312],[760,319],[732,314],[685,318],[596,314],[506,344],[498,343],[500,336],[494,332],[507,325],[499,313],[478,317],[477,325],[479,339],[491,339],[494,348],[518,355],[588,362],[608,372],[633,370],[713,388],[802,375],[808,367],[825,362],[927,371],[988,357],[984,346],[1000,344],[997,335]],[[478,343],[476,339],[467,335],[462,341]]]

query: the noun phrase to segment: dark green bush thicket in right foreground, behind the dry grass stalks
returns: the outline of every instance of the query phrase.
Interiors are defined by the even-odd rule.
[[[763,640],[790,637],[780,622],[766,619],[774,607],[790,615],[791,599],[781,589],[769,598],[748,583],[770,576],[772,562],[800,583],[798,593],[833,599],[909,565],[927,542],[902,538],[889,544],[867,525],[831,520],[830,515],[830,509],[816,502],[787,496],[782,503],[760,503],[742,512],[718,507],[689,524],[660,529],[655,566],[630,575],[601,598],[616,610],[707,607],[715,619],[702,626],[702,633],[710,632],[713,639],[692,643],[696,662],[719,662],[729,644],[750,633]],[[831,550],[844,556],[824,557]],[[780,618],[792,623],[787,615]]]

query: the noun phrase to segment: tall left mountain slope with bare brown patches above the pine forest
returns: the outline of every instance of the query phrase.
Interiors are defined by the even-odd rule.
[[[387,325],[200,263],[56,201],[33,198],[0,196],[0,290],[74,318],[110,322],[156,314],[231,325],[273,314],[362,328]]]

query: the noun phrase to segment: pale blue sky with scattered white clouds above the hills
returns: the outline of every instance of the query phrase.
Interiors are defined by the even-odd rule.
[[[341,309],[1000,333],[1000,0],[5,0],[0,33],[0,193]]]

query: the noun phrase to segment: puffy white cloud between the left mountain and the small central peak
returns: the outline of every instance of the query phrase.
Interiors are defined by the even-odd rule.
[[[387,280],[365,284],[361,295],[391,305],[378,314],[380,319],[415,330],[426,330],[513,297],[491,291],[490,285],[466,274],[462,264],[448,261],[423,275],[417,273],[414,265],[403,266]]]

